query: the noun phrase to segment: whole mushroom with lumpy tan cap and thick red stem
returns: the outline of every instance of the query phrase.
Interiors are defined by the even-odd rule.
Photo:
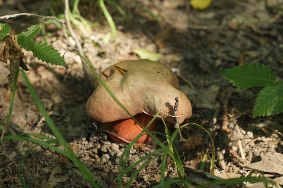
[[[105,69],[100,77],[144,127],[159,110],[161,112],[157,117],[174,124],[173,108],[176,96],[180,98],[177,114],[179,123],[183,123],[192,115],[190,100],[178,90],[178,78],[170,68],[160,62],[121,61]],[[109,134],[112,140],[124,142],[119,139],[121,137],[132,141],[142,128],[118,105],[98,80],[95,87],[86,103],[86,113],[96,121],[107,123],[107,130],[113,132]],[[155,130],[155,124],[156,122],[152,123],[148,130]],[[151,137],[145,134],[137,142],[145,143],[150,140]]]

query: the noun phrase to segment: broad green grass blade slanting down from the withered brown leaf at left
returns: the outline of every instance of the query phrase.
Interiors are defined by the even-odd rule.
[[[69,159],[71,159],[75,165],[83,172],[84,177],[90,181],[90,183],[94,186],[97,187],[97,184],[95,183],[95,181],[93,179],[95,179],[96,181],[98,181],[98,178],[96,176],[94,176],[92,174],[92,172],[86,168],[80,161],[79,159],[77,159],[77,157],[75,156],[75,154],[73,154],[72,150],[69,148],[69,146],[67,145],[67,142],[65,141],[65,139],[63,138],[63,136],[61,135],[61,133],[59,132],[58,128],[55,126],[55,124],[53,123],[52,119],[49,117],[49,115],[47,114],[47,112],[44,109],[44,106],[42,105],[42,103],[40,102],[38,96],[35,93],[34,88],[32,87],[30,81],[28,80],[26,73],[21,69],[20,70],[23,78],[26,81],[27,87],[30,91],[30,94],[32,95],[35,104],[37,105],[40,113],[44,116],[46,123],[49,125],[49,128],[51,129],[51,131],[53,132],[53,134],[55,135],[55,137],[58,139],[58,141],[60,142],[60,144],[63,146],[63,148],[65,149],[66,153],[69,155]],[[102,185],[99,181],[98,183],[100,185]]]

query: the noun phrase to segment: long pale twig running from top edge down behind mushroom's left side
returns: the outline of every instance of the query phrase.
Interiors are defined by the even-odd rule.
[[[64,11],[64,14],[65,14],[67,28],[68,28],[68,30],[69,30],[69,32],[71,34],[71,37],[76,42],[77,51],[78,51],[79,54],[81,54],[81,56],[85,57],[85,53],[83,51],[81,43],[80,43],[79,39],[77,38],[77,35],[75,34],[75,32],[74,32],[74,30],[73,30],[73,28],[71,26],[71,22],[70,22],[70,19],[69,19],[69,1],[68,0],[65,0],[65,11]],[[92,89],[95,89],[95,82],[94,82],[94,80],[96,80],[95,75],[90,70],[89,66],[87,65],[86,61],[83,58],[81,58],[81,62],[82,62],[83,69],[85,71],[86,78],[89,81],[90,86],[92,87]]]

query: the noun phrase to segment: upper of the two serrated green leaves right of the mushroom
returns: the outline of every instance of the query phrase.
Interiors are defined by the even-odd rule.
[[[225,79],[238,88],[260,87],[275,81],[275,75],[270,67],[264,64],[248,63],[233,67],[220,73]]]

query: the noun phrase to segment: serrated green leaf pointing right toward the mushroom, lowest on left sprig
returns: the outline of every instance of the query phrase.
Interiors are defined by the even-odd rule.
[[[34,57],[46,63],[50,63],[51,65],[67,65],[63,57],[60,56],[59,51],[47,43],[37,42],[30,50],[33,52]]]

